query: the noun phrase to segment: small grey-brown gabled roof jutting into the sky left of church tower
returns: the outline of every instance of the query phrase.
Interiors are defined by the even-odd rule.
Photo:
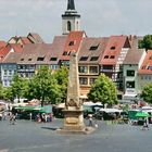
[[[33,43],[43,43],[42,38],[36,34],[36,33],[29,33],[27,35],[27,38],[33,42]]]

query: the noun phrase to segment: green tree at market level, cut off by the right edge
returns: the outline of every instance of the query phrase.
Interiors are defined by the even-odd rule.
[[[152,84],[148,84],[141,93],[141,98],[148,103],[152,103]]]

